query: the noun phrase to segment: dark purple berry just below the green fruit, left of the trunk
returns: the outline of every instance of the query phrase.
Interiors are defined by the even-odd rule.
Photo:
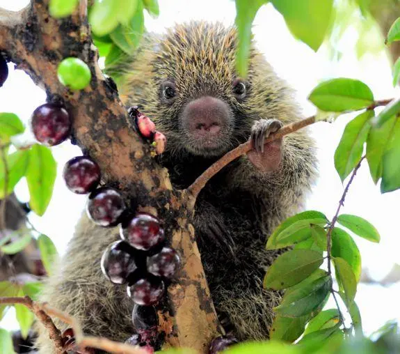
[[[46,103],[36,108],[31,124],[35,138],[47,146],[61,144],[70,135],[70,115],[59,105]]]

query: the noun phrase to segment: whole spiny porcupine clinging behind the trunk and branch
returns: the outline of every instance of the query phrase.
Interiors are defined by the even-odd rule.
[[[190,185],[252,132],[256,144],[257,132],[277,130],[280,123],[272,120],[301,119],[292,91],[255,49],[241,84],[234,69],[234,29],[191,23],[145,43],[123,69],[120,93],[166,134],[167,151],[159,162],[176,187]],[[266,121],[256,123],[260,119]],[[280,295],[262,289],[266,269],[278,255],[265,250],[266,238],[301,210],[316,172],[306,130],[252,154],[209,181],[193,220],[214,305],[227,330],[241,340],[269,337]],[[43,298],[76,316],[87,334],[125,341],[132,334],[131,300],[99,267],[105,247],[117,239],[117,229],[102,229],[83,216]],[[40,353],[51,353],[47,334],[41,333],[39,343]]]

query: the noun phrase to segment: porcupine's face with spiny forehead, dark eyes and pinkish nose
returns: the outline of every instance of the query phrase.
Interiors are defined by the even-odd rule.
[[[235,32],[200,23],[177,26],[154,59],[157,128],[168,149],[212,157],[248,139],[241,127],[250,84],[237,77]]]

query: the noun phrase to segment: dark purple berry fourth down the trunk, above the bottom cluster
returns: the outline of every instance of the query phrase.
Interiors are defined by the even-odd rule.
[[[132,219],[121,224],[120,235],[131,246],[147,251],[164,240],[164,231],[157,217],[137,213]]]

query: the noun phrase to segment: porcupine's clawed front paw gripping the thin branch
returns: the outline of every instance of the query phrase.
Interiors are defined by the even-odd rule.
[[[269,134],[278,131],[282,127],[278,119],[260,119],[251,128],[250,141],[253,150],[247,153],[250,162],[259,171],[264,173],[273,172],[280,166],[282,161],[282,138],[271,141],[264,145]]]

